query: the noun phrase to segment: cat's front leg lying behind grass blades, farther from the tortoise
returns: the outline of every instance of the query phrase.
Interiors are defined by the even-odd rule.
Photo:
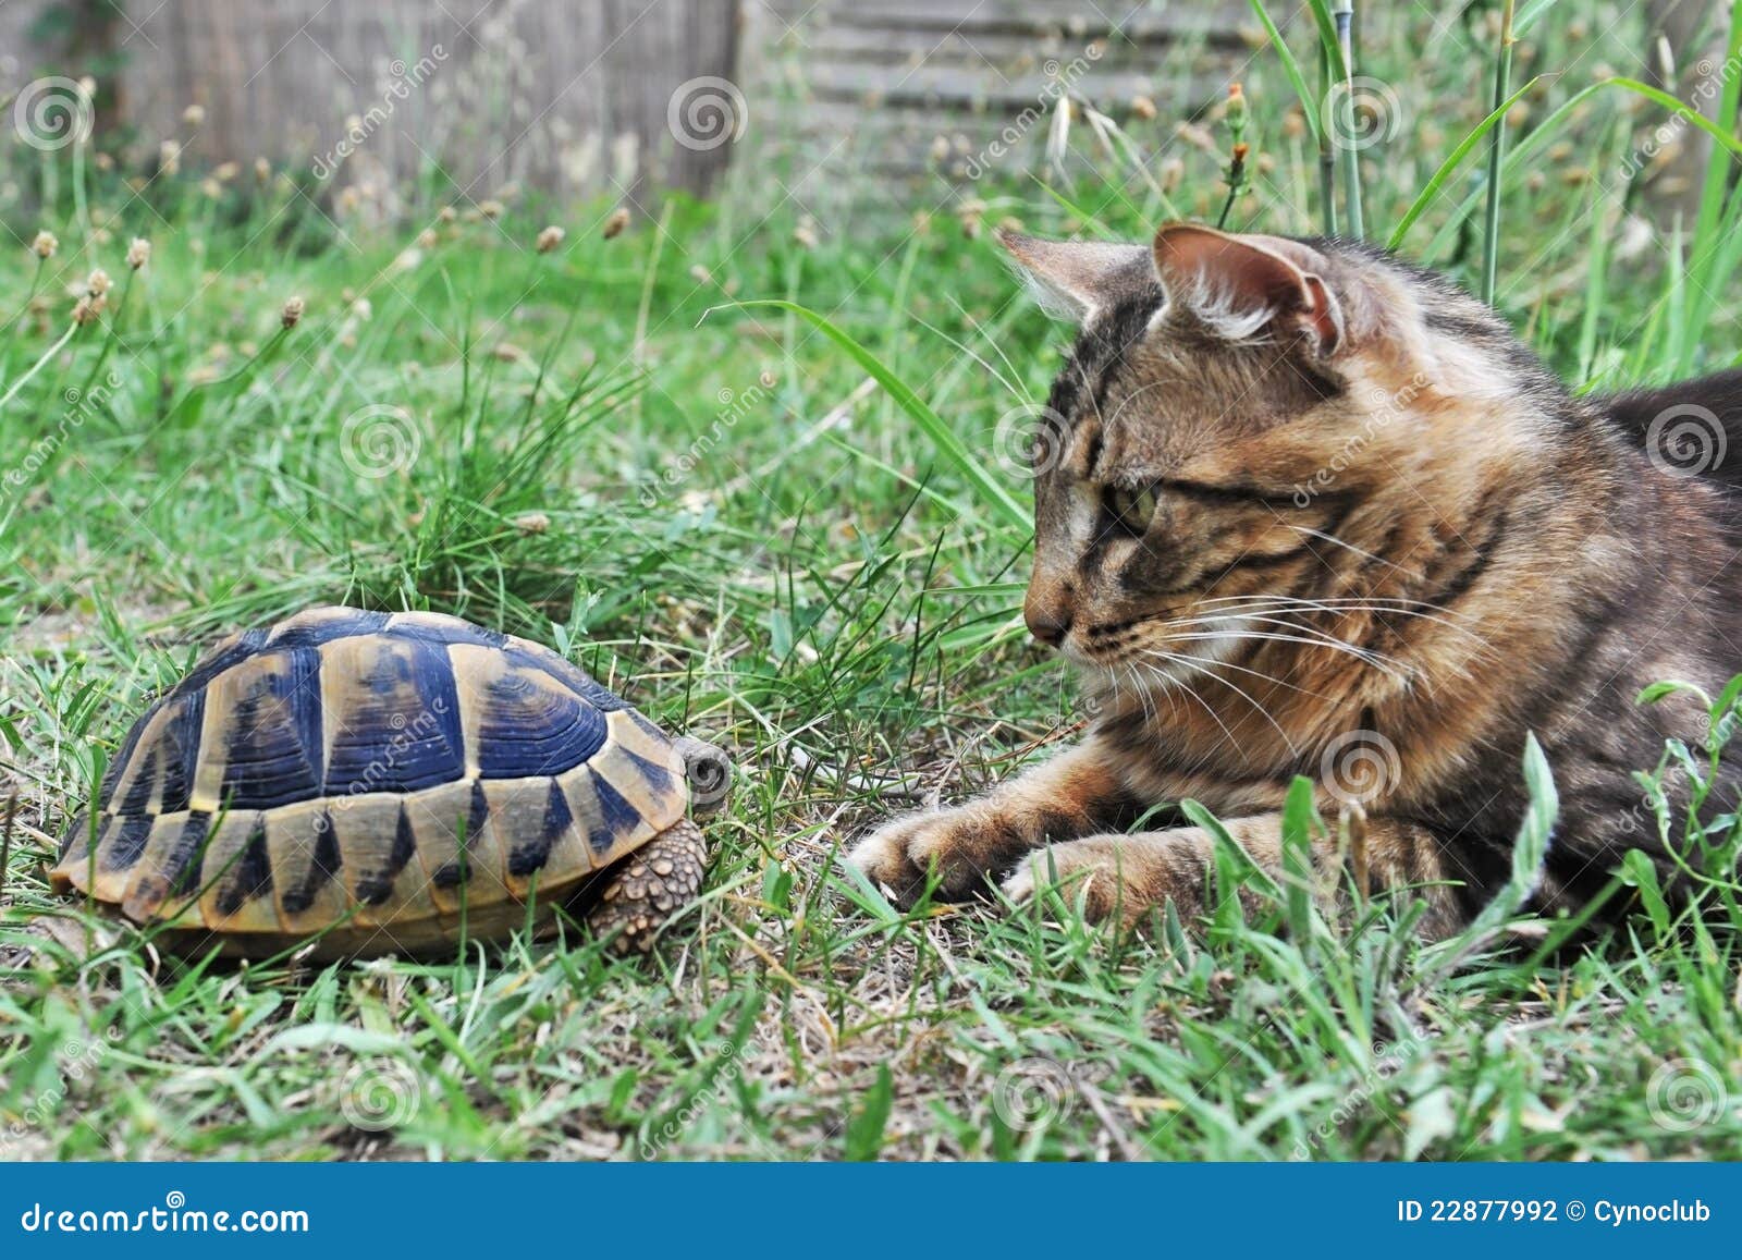
[[[1259,814],[1230,819],[1228,833],[1273,882],[1286,887],[1282,868],[1282,816]],[[1411,889],[1427,901],[1428,911],[1420,934],[1441,939],[1456,932],[1470,908],[1482,899],[1482,889],[1467,887],[1470,871],[1449,857],[1439,837],[1415,823],[1366,819],[1362,837],[1352,852],[1336,850],[1334,842],[1313,845],[1313,896],[1334,908],[1348,891],[1347,875],[1369,892]],[[1202,828],[1139,831],[1134,835],[1094,835],[1049,845],[1031,854],[1021,870],[1003,882],[1012,899],[1031,898],[1036,889],[1057,884],[1066,901],[1084,899],[1084,911],[1096,920],[1118,918],[1134,927],[1150,911],[1172,901],[1183,922],[1204,913],[1204,894],[1216,870],[1216,842]],[[1240,891],[1249,908],[1252,894]]]

